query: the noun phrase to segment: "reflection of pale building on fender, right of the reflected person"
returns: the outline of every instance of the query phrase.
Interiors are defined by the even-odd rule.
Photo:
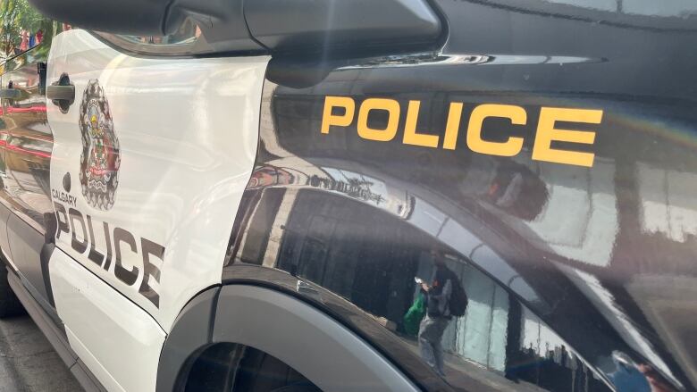
[[[594,391],[605,385],[539,317],[466,263],[449,263],[469,297],[464,317],[443,338],[446,349],[508,379],[548,390]]]

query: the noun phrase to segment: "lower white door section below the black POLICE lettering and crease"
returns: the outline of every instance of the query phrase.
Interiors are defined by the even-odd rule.
[[[155,390],[164,330],[60,249],[48,265],[68,341],[99,382],[110,391]]]

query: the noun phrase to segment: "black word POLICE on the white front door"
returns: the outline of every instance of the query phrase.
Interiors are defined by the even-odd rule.
[[[55,199],[61,200],[59,196],[55,196]],[[164,246],[147,238],[140,238],[140,241],[138,241],[137,237],[127,229],[115,227],[112,232],[109,224],[103,221],[104,237],[102,239],[104,239],[106,245],[106,252],[104,253],[103,249],[97,247],[94,227],[98,225],[98,221],[93,220],[88,214],[80,213],[80,211],[74,208],[69,208],[66,211],[65,205],[59,201],[54,200],[54,205],[55,217],[58,222],[58,229],[55,230],[56,239],[61,238],[62,234],[71,236],[72,249],[80,254],[88,253],[88,259],[102,267],[105,271],[109,271],[111,267],[113,252],[115,258],[113,274],[116,279],[129,286],[134,286],[142,275],[138,289],[139,294],[159,308],[160,295],[156,287],[160,283],[160,267],[164,261]],[[138,246],[139,242],[140,249]],[[129,247],[130,252],[141,255],[142,268],[133,265],[129,270],[123,265],[122,252],[129,252]],[[159,262],[156,259],[159,259]],[[143,271],[142,274],[140,271]],[[155,284],[155,288],[152,286],[153,284]]]

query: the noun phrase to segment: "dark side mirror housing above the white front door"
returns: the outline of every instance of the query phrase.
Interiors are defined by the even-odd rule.
[[[446,30],[428,0],[29,2],[55,20],[113,34],[164,36],[190,18],[206,40],[206,54],[396,54],[437,48]]]

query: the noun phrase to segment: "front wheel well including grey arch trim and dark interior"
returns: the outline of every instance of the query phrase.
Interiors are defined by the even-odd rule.
[[[270,288],[232,284],[199,294],[182,310],[160,355],[156,390],[320,390],[315,385],[416,390],[327,314]]]

